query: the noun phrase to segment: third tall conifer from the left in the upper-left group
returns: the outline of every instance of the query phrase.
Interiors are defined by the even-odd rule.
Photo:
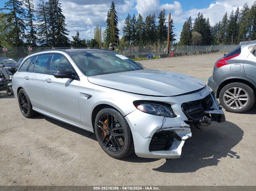
[[[38,29],[38,42],[41,45],[48,46],[49,44],[49,30],[48,30],[48,8],[45,7],[44,0],[42,1],[42,4],[38,4],[38,11],[37,11],[37,29]]]

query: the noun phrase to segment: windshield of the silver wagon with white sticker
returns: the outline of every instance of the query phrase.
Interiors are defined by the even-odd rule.
[[[73,53],[71,58],[87,76],[142,70],[136,62],[112,52]]]

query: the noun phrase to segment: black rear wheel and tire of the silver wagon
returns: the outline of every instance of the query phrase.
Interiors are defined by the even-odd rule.
[[[32,110],[32,104],[29,100],[28,94],[23,88],[18,92],[18,103],[24,117],[31,118],[37,115],[37,112]]]

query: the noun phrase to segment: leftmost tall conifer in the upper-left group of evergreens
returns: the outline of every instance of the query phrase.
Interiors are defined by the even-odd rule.
[[[8,11],[6,14],[6,29],[8,31],[6,39],[8,44],[13,47],[22,47],[24,44],[23,39],[25,38],[26,30],[23,2],[19,0],[8,0],[8,2],[5,3],[4,8],[1,8],[0,10]]]

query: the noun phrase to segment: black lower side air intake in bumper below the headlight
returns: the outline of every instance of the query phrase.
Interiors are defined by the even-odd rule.
[[[174,134],[170,131],[156,132],[149,144],[149,151],[164,151],[171,147]]]

